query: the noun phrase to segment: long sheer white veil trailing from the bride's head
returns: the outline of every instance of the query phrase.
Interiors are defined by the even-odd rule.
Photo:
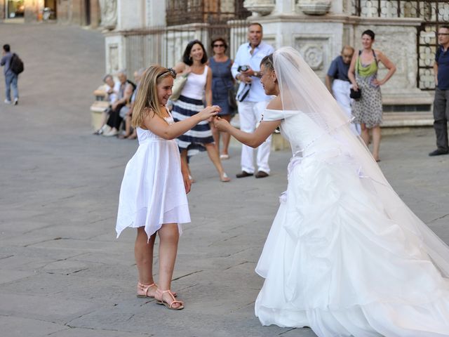
[[[351,121],[300,53],[291,47],[279,48],[274,53],[274,70],[285,117],[303,112],[320,127],[321,136],[330,135],[343,145],[346,154],[356,160],[363,185],[378,196],[384,213],[403,230],[403,239],[425,251],[442,275],[448,277],[449,247],[394,192],[363,140],[352,133]]]

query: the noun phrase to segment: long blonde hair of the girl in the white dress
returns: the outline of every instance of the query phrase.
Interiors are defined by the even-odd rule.
[[[133,117],[131,119],[131,125],[134,128],[144,126],[144,119],[150,110],[159,117],[164,117],[165,113],[157,97],[157,85],[168,76],[175,79],[176,72],[171,68],[161,67],[160,65],[152,65],[145,70],[142,79],[140,79],[138,93],[135,97]]]

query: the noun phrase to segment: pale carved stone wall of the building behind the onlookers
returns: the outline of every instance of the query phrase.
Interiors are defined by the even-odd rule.
[[[133,6],[129,6],[128,1]],[[117,0],[118,24],[106,35],[107,55],[112,56],[111,60],[107,59],[107,72],[122,68],[131,72],[153,62],[173,66],[180,60],[187,41],[194,38],[208,41],[204,34],[207,29],[201,26],[206,24],[201,22],[170,27],[174,30],[163,34],[150,32],[151,29],[145,32],[145,29],[161,29],[165,25],[165,15],[161,15],[165,10],[160,8],[165,6],[165,1],[163,4],[156,0]],[[422,20],[359,18],[353,15],[353,4],[351,0],[246,0],[244,6],[253,11],[249,21],[262,23],[265,42],[274,48],[293,46],[323,80],[330,62],[340,54],[342,46],[349,44],[361,48],[361,32],[373,29],[376,33],[374,47],[397,67],[396,74],[382,86],[384,103],[431,104],[431,92],[421,91],[416,83],[417,27]],[[234,25],[234,22],[228,24]],[[129,34],[130,30],[135,30],[135,34]],[[238,47],[232,41],[245,41],[245,36],[245,29],[231,29],[231,57]],[[386,72],[380,65],[380,78]]]

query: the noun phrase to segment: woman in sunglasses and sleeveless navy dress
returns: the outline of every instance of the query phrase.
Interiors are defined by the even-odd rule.
[[[232,60],[225,54],[227,43],[222,37],[217,37],[210,44],[213,57],[209,58],[209,67],[212,70],[212,104],[222,108],[219,116],[231,121],[237,110],[236,93],[234,90],[234,78],[232,77]],[[231,136],[227,132],[220,132],[211,124],[213,138],[217,150],[220,152],[220,133],[223,136],[223,149],[220,159],[229,159],[229,140]]]

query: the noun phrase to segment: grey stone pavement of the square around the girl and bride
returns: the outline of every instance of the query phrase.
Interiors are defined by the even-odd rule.
[[[260,326],[254,268],[286,188],[288,151],[272,176],[220,183],[192,159],[173,312],[135,297],[133,230],[115,238],[119,185],[135,141],[92,136],[89,106],[105,69],[100,32],[65,25],[0,25],[25,61],[20,104],[0,105],[0,331],[3,337],[315,336]],[[8,39],[8,41],[7,41]],[[0,83],[1,102],[4,82]],[[449,242],[449,156],[427,157],[434,132],[382,140],[380,166],[398,194]],[[239,171],[239,147],[224,162]]]

